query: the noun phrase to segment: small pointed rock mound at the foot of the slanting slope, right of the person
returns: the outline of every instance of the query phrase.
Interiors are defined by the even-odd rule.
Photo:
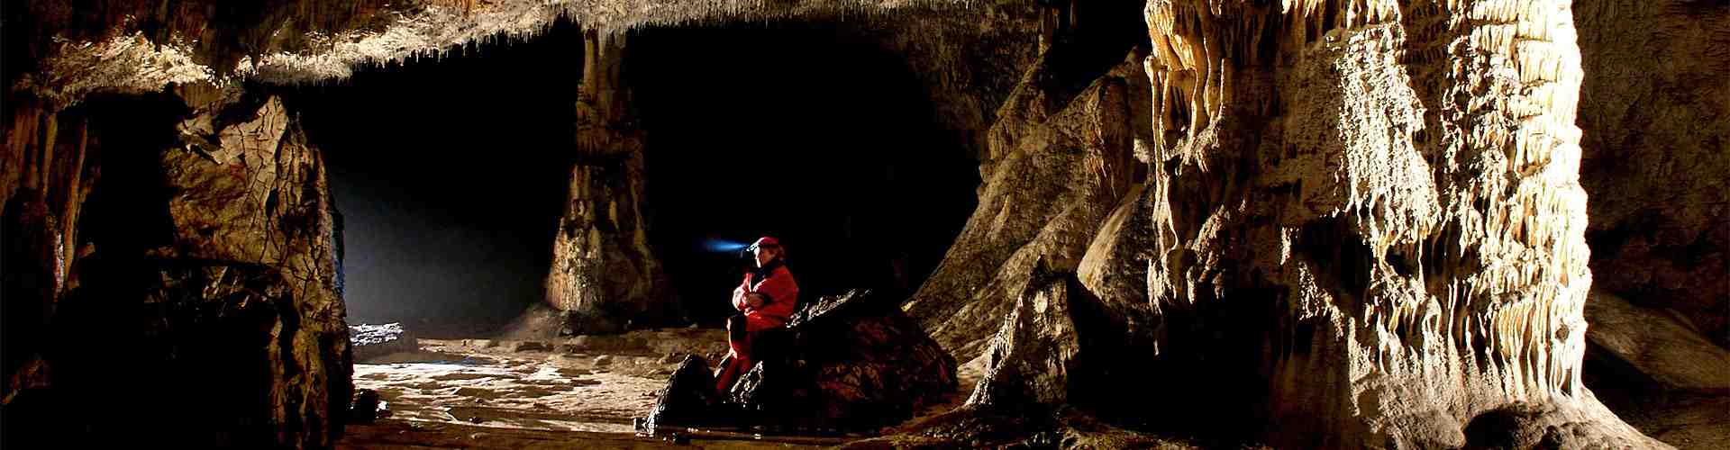
[[[1147,396],[1145,386],[1164,381],[1145,370],[1145,355],[1152,351],[1137,344],[1123,318],[1093,298],[1076,273],[1041,268],[991,338],[981,357],[984,376],[967,403],[901,433],[971,447],[1190,448],[1095,419],[1093,414],[1154,417],[1149,405],[1183,405],[1159,408],[1176,414],[1206,410],[1190,398]]]

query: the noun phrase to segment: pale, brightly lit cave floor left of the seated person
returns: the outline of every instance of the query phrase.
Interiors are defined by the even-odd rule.
[[[389,417],[349,424],[337,448],[803,448],[848,438],[692,433],[637,436],[685,355],[725,351],[714,329],[637,331],[561,341],[419,339],[420,351],[355,363]],[[855,438],[856,440],[856,438]]]

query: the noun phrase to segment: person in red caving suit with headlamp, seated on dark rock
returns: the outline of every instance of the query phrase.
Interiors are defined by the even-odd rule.
[[[765,329],[785,325],[799,299],[799,284],[782,261],[785,249],[780,248],[780,241],[763,237],[747,251],[756,256],[758,267],[746,272],[744,282],[734,289],[734,308],[739,315],[727,320],[730,350],[721,360],[721,372],[714,376],[714,389],[723,395],[756,363],[751,360],[751,338]]]

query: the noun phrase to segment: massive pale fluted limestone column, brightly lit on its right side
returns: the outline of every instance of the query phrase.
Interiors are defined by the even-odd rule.
[[[1270,16],[1273,33],[1247,26]],[[1150,2],[1147,19],[1171,130],[1150,299],[1270,308],[1197,331],[1268,329],[1246,367],[1268,379],[1272,443],[1470,445],[1476,417],[1531,403],[1555,419],[1500,424],[1659,445],[1579,382],[1592,273],[1566,2]]]

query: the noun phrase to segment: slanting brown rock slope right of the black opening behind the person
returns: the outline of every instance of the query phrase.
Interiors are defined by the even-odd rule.
[[[1052,52],[1069,52],[1064,48],[1069,47]],[[1054,61],[1064,59],[1045,59],[1047,64]],[[1123,54],[1109,61],[1123,62]],[[1040,111],[1035,106],[1054,102],[1064,107],[1050,118],[1000,112],[991,142],[1003,156],[984,168],[990,180],[979,208],[943,263],[903,306],[952,355],[979,355],[1003,312],[1026,289],[1035,263],[1067,261],[1059,265],[1073,268],[1111,213],[1107,208],[1130,190],[1137,163],[1118,149],[1128,149],[1133,140],[1128,87],[1137,83],[1131,81],[1140,73],[1137,66],[1123,62],[1069,97],[1040,88],[1012,93],[1005,109],[1026,104]],[[1036,66],[1024,80],[1057,76],[1041,74],[1045,71],[1057,69]],[[1071,83],[1052,81],[1057,87]],[[1035,119],[1041,121],[1010,125]],[[1019,147],[998,147],[1010,142]]]

